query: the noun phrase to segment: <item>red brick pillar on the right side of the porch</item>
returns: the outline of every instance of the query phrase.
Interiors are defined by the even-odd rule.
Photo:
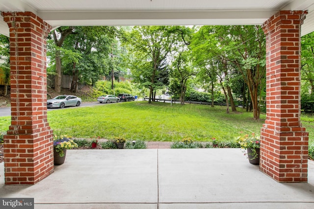
[[[266,120],[260,169],[278,182],[308,181],[308,133],[300,122],[300,29],[307,12],[280,11],[266,34]]]

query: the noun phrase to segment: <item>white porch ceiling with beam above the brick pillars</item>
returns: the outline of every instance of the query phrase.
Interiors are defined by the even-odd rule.
[[[0,0],[0,11],[31,11],[54,28],[262,24],[279,10],[308,10],[302,34],[314,30],[314,0]],[[9,34],[2,17],[0,33]]]

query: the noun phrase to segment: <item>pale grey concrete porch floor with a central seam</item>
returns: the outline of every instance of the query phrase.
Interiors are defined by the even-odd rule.
[[[68,150],[54,173],[0,197],[34,198],[35,209],[313,209],[309,182],[277,183],[240,149]]]

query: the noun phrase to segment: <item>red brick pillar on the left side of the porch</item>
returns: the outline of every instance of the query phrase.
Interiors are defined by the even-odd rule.
[[[11,126],[4,137],[5,184],[35,184],[53,172],[47,122],[46,38],[31,12],[2,12],[10,29]]]

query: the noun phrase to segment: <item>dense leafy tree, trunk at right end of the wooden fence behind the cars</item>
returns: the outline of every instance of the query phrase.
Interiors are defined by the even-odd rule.
[[[65,70],[65,73],[72,75],[71,91],[77,91],[79,79],[91,82],[93,86],[102,75],[107,74],[110,46],[114,42],[114,35],[110,34],[109,28],[111,29],[107,26],[76,27],[76,34],[65,42],[65,47],[81,56],[78,61],[69,63]]]

